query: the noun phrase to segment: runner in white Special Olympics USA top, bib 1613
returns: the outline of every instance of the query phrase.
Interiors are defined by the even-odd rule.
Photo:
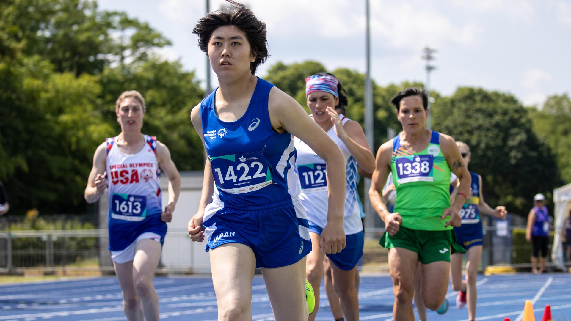
[[[158,320],[159,298],[152,278],[180,192],[180,175],[167,146],[141,134],[143,96],[125,91],[115,104],[121,133],[95,150],[85,199],[96,202],[107,189],[109,250],[123,291],[128,320]],[[162,210],[160,171],[168,176],[168,204]]]

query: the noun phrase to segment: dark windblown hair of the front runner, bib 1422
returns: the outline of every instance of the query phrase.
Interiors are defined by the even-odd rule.
[[[270,57],[268,55],[268,41],[266,40],[266,23],[259,21],[252,10],[242,3],[232,0],[226,1],[230,2],[232,7],[206,14],[196,23],[192,33],[198,35],[200,50],[208,54],[208,40],[216,28],[235,26],[242,30],[246,34],[252,53],[256,57],[254,62],[250,63],[250,71],[252,75],[255,75],[258,66]]]

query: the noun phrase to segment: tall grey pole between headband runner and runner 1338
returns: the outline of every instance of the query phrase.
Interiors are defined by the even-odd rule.
[[[366,46],[366,59],[367,59],[367,74],[365,75],[365,137],[367,137],[367,142],[371,149],[374,149],[373,145],[373,89],[371,85],[371,33],[369,25],[369,0],[365,0],[365,14],[367,15],[367,31],[365,37]],[[373,151],[373,154],[375,152]],[[369,187],[371,187],[371,179],[365,178],[365,214],[367,214],[367,219],[365,220],[365,225],[368,227],[373,227],[375,223],[375,218],[373,216],[373,208],[371,207],[371,202],[369,202]],[[375,215],[376,216],[376,215]]]

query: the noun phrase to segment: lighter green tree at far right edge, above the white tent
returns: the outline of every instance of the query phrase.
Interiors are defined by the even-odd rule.
[[[552,95],[541,110],[532,110],[533,129],[556,155],[564,183],[571,183],[571,99],[568,94]]]

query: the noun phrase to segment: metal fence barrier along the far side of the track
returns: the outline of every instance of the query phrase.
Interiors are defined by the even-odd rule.
[[[566,226],[571,228],[571,226]],[[520,271],[529,270],[531,244],[514,243],[514,230],[525,226],[485,226],[481,270],[487,266],[508,265]],[[368,271],[388,271],[387,251],[378,246],[384,228],[367,228],[367,245],[363,264]],[[519,232],[521,238],[521,231]],[[74,274],[89,271],[112,271],[107,248],[100,242],[108,237],[107,230],[57,230],[57,231],[0,231],[0,272],[22,274],[35,271],[41,274]],[[524,236],[525,237],[525,236]],[[204,259],[192,259],[194,247],[184,228],[169,231],[163,248],[159,272],[195,272],[193,267],[208,266]],[[166,248],[168,244],[168,249]],[[195,244],[192,244],[195,245]],[[198,245],[198,244],[196,244]],[[204,243],[197,248],[203,251]],[[549,245],[551,247],[552,244]],[[564,250],[565,252],[565,250]],[[166,256],[171,259],[168,259]],[[205,255],[207,258],[207,254]],[[523,256],[523,257],[522,257]],[[190,258],[183,264],[169,264],[172,258]],[[206,259],[207,260],[207,259]],[[567,266],[569,258],[566,258]],[[548,256],[548,262],[550,261]],[[165,263],[166,264],[163,264]],[[177,261],[178,262],[178,261]],[[548,266],[552,264],[548,263]]]

